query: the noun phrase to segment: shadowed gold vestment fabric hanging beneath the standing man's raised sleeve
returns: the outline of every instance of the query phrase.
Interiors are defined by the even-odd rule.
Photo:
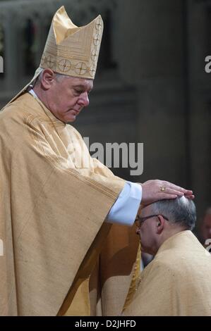
[[[131,302],[139,279],[140,249],[137,254],[137,248],[134,226],[104,223],[78,270],[59,315],[119,316],[124,301],[126,304]]]

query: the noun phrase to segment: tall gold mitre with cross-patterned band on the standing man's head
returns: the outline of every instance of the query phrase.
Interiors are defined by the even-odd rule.
[[[64,6],[56,11],[42,54],[40,68],[93,80],[100,52],[103,22],[101,16],[77,27]]]

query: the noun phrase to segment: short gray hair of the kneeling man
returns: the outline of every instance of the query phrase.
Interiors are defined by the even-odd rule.
[[[154,202],[151,208],[153,214],[166,216],[172,224],[185,227],[187,230],[193,230],[195,227],[195,204],[185,196]]]

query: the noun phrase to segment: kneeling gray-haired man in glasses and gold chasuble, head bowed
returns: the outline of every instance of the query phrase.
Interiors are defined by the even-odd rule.
[[[153,261],[125,316],[211,316],[211,256],[193,235],[195,205],[182,196],[145,206],[137,230]]]

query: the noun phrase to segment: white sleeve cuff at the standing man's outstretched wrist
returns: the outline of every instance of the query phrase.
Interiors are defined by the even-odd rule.
[[[141,185],[134,182],[126,182],[105,221],[132,226],[138,213],[141,199]]]

